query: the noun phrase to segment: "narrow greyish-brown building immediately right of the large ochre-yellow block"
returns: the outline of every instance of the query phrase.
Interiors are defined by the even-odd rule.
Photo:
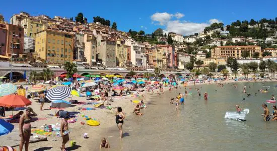
[[[74,45],[73,59],[79,60],[82,62],[87,62],[87,59],[85,57],[85,34],[76,33],[74,40],[75,40],[75,45]]]

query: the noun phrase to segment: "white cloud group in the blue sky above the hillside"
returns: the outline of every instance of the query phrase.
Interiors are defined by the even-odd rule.
[[[176,17],[177,20],[172,18]],[[204,30],[205,27],[210,26],[213,23],[221,23],[218,19],[211,19],[204,23],[194,23],[190,21],[181,21],[180,18],[184,17],[184,14],[168,14],[168,13],[156,13],[151,16],[153,23],[158,22],[159,25],[165,26],[165,33],[176,32],[182,35],[191,35],[199,33]]]

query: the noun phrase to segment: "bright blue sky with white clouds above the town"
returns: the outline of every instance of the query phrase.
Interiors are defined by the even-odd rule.
[[[263,3],[264,2],[264,3]],[[203,31],[215,22],[224,25],[236,20],[275,19],[276,0],[83,0],[83,1],[3,1],[0,14],[9,21],[13,14],[28,12],[31,16],[47,15],[51,18],[61,16],[70,18],[82,12],[88,22],[100,16],[117,23],[117,29],[128,32],[129,29],[152,33],[158,28],[165,32],[190,35]]]

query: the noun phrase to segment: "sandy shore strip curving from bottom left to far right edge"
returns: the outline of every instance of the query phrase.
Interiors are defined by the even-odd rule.
[[[235,82],[235,81],[232,80],[232,81],[223,81],[223,82],[220,82],[220,83],[224,84],[224,83],[241,83],[241,82],[254,82],[254,81],[237,81],[237,82]],[[257,81],[257,82],[260,82],[260,81]],[[262,81],[262,82],[264,82],[264,81]],[[274,80],[274,81],[265,81],[265,82],[276,82],[276,80]],[[204,84],[209,85],[210,83],[209,82],[208,83],[195,83],[195,86],[197,87],[199,85],[204,85]],[[211,83],[211,85],[212,84],[216,84],[216,83],[213,82],[213,83]],[[179,84],[179,86],[184,87],[182,84]],[[191,87],[191,86],[194,86],[193,83],[189,83],[187,85],[187,87]],[[123,109],[123,112],[126,113],[126,120],[127,120],[129,115],[134,114],[134,113],[132,113],[134,105],[130,102],[130,100],[144,99],[145,104],[148,105],[150,103],[150,105],[148,105],[147,109],[143,109],[143,110],[149,110],[149,109],[151,109],[151,108],[149,108],[149,106],[151,107],[151,100],[148,100],[148,98],[155,97],[157,95],[157,90],[158,89],[155,89],[154,95],[152,95],[152,92],[139,93],[140,95],[144,94],[143,98],[140,98],[140,97],[138,97],[138,98],[126,97],[126,98],[123,98],[123,99],[116,99],[115,102],[112,102],[110,106],[112,108],[121,106],[122,109]],[[164,87],[164,93],[167,93],[167,92],[169,92],[169,88]],[[30,99],[30,100],[32,101],[31,107],[35,110],[36,113],[38,113],[38,117],[39,118],[41,118],[41,117],[47,118],[47,120],[39,120],[39,121],[36,121],[36,122],[32,122],[32,127],[42,128],[41,126],[43,124],[60,123],[60,119],[58,119],[56,117],[50,117],[50,116],[47,115],[47,114],[54,114],[54,110],[39,111],[40,104],[36,103],[35,100],[33,100],[33,99]],[[68,101],[70,99],[66,99],[66,100]],[[80,97],[79,98],[79,97],[76,97],[76,96],[73,97],[73,100],[79,100],[79,101],[84,101],[84,102],[87,101],[85,99],[85,97]],[[48,106],[49,106],[49,103],[45,103],[43,108],[46,108]],[[100,140],[101,140],[102,137],[106,137],[109,140],[110,131],[113,131],[115,129],[118,130],[118,128],[116,126],[116,123],[115,123],[115,116],[114,116],[115,112],[116,112],[116,109],[108,110],[108,109],[98,109],[98,108],[96,108],[96,110],[92,110],[92,111],[82,111],[82,110],[79,111],[79,110],[77,110],[78,107],[91,107],[91,105],[89,105],[89,106],[77,105],[75,107],[65,109],[66,111],[78,111],[78,112],[80,112],[80,114],[77,114],[77,122],[69,124],[70,129],[73,130],[70,133],[70,139],[75,140],[77,142],[77,146],[79,146],[79,148],[77,148],[76,150],[91,149],[93,146],[96,146],[96,147],[93,147],[93,148],[98,148],[99,144],[100,144]],[[16,114],[17,112],[14,112],[14,114]],[[142,111],[142,112],[144,112],[144,111]],[[7,111],[6,114],[10,115],[11,111]],[[89,125],[86,125],[86,124],[81,125],[80,122],[85,121],[85,120],[83,120],[83,117],[81,117],[82,114],[88,115],[88,116],[91,116],[93,118],[98,119],[100,121],[100,126],[89,126]],[[144,114],[143,116],[147,116],[147,114],[146,115]],[[18,124],[14,124],[14,125],[15,125],[15,129],[18,129]],[[123,133],[124,133],[124,129],[126,129],[125,125],[123,125]],[[85,132],[88,133],[88,136],[89,136],[88,139],[82,138],[82,134],[85,133]],[[119,137],[119,134],[118,134],[118,136],[114,136],[114,137]],[[41,141],[41,142],[36,142],[36,143],[30,143],[29,144],[29,149],[30,150],[35,150],[35,149],[43,148],[43,147],[46,147],[46,146],[52,146],[51,149],[55,150],[56,148],[59,148],[59,146],[61,145],[61,138],[59,137],[59,138],[56,138],[57,141],[52,141],[53,138],[56,138],[56,137],[48,136],[47,137],[47,139],[48,139],[47,142],[46,141]],[[124,137],[122,139],[124,139]],[[47,145],[46,145],[46,143],[47,143]],[[7,145],[9,145],[9,144],[7,144]],[[70,142],[67,142],[66,147],[69,147],[69,146],[70,146]],[[18,146],[15,147],[15,148],[19,149]]]

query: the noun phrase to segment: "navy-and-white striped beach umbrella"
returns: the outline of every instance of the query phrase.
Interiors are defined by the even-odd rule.
[[[71,88],[67,86],[49,89],[46,98],[52,100],[64,100],[71,95]]]

